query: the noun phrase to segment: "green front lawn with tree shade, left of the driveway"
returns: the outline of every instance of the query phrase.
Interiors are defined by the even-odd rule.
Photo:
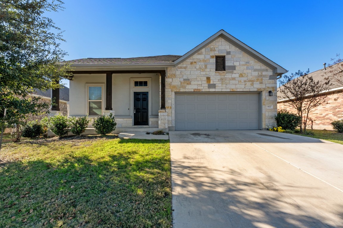
[[[171,225],[169,140],[27,140],[0,162],[0,227]]]

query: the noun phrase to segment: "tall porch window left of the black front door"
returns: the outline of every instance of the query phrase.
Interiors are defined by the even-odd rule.
[[[102,115],[102,86],[88,86],[88,115]]]

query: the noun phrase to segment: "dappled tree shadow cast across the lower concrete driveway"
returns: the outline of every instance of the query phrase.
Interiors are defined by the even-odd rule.
[[[341,227],[338,221],[342,222],[343,205],[339,202],[331,207],[335,209],[332,211],[333,217],[320,214],[326,204],[318,205],[313,211],[306,210],[278,186],[281,184],[278,180],[263,169],[261,172],[267,176],[267,182],[249,177],[244,170],[238,172],[229,167],[209,170],[203,165],[189,166],[189,162],[184,159],[172,162],[175,178],[173,191],[176,190],[173,205],[177,205],[173,207],[173,216],[178,227],[181,222],[177,218],[188,218],[181,219],[182,222],[186,221],[182,224],[184,227],[190,224],[204,227],[209,221],[213,227]],[[252,178],[251,181],[247,177]],[[178,191],[185,187],[189,191]],[[295,193],[296,188],[287,186]],[[301,197],[311,200],[308,195]],[[193,222],[188,224],[189,220]]]

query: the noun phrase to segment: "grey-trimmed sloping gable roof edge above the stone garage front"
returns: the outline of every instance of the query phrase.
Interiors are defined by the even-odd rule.
[[[254,49],[250,48],[248,45],[246,45],[245,43],[243,43],[240,40],[236,39],[235,37],[231,36],[229,33],[224,31],[223,29],[218,31],[217,33],[215,33],[213,36],[211,36],[210,38],[208,38],[207,40],[205,40],[204,42],[202,42],[201,44],[199,44],[198,46],[196,46],[195,48],[193,48],[192,50],[190,50],[186,54],[182,55],[182,57],[178,58],[174,62],[175,66],[177,66],[180,63],[182,63],[184,60],[189,58],[191,55],[199,52],[201,49],[205,48],[207,45],[209,45],[210,43],[212,43],[214,40],[218,39],[219,37],[223,38],[224,40],[226,40],[230,44],[234,45],[239,50],[244,51],[245,53],[247,53],[251,57],[255,58],[259,62],[261,62],[264,65],[266,65],[269,68],[271,68],[275,75],[282,75],[282,74],[288,72],[288,70],[286,70],[285,68],[283,68],[280,65],[274,63],[269,58],[265,57],[261,53],[259,53],[259,52],[255,51]]]

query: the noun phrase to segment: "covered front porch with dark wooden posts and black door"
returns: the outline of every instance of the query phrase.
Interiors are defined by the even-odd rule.
[[[117,129],[147,132],[168,131],[165,108],[165,69],[75,70],[70,80],[69,116],[116,117]],[[52,90],[50,115],[60,113],[59,89]],[[91,124],[85,132],[94,134]]]

